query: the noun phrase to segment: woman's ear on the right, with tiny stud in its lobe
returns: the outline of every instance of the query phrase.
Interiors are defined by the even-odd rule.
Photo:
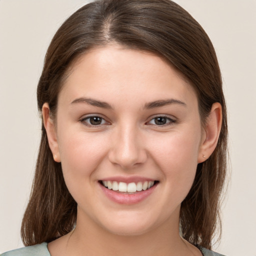
[[[205,161],[215,149],[221,129],[222,110],[221,105],[215,102],[211,106],[203,129],[202,141],[198,151],[197,163]]]

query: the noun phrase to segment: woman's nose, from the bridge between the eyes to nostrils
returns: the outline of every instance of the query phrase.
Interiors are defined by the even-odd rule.
[[[147,154],[138,128],[125,125],[116,128],[113,133],[108,153],[110,162],[128,169],[146,161]]]

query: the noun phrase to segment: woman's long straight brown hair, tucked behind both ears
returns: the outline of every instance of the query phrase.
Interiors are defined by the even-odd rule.
[[[181,204],[180,230],[193,244],[211,248],[219,219],[226,172],[227,124],[221,74],[205,31],[170,0],[97,0],[73,13],[48,47],[37,87],[38,109],[48,102],[54,114],[57,96],[71,64],[97,45],[119,43],[165,58],[197,92],[202,123],[214,102],[222,106],[222,127],[211,156],[199,163],[193,185]],[[65,185],[61,164],[53,160],[42,124],[41,143],[21,237],[25,245],[49,242],[72,230],[76,202]]]

